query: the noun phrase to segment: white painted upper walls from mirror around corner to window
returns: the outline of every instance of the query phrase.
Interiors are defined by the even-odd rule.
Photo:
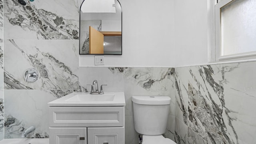
[[[123,54],[105,55],[105,66],[207,64],[207,2],[210,0],[120,0]],[[94,66],[94,55],[80,55],[80,66]]]

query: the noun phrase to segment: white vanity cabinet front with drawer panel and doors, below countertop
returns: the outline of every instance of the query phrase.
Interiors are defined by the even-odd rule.
[[[50,144],[124,144],[124,106],[49,106]]]

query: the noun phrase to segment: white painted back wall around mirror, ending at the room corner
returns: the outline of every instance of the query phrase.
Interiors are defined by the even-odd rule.
[[[175,66],[174,0],[120,0],[121,56],[105,55],[105,66]],[[80,55],[79,66],[94,66],[94,55]]]

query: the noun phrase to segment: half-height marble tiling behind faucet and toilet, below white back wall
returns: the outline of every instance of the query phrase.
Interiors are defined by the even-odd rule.
[[[171,108],[166,137],[174,140],[175,85],[174,68],[90,68],[81,67],[80,85],[90,91],[93,80],[108,84],[104,92],[124,92],[125,106],[125,143],[138,144],[138,133],[134,130],[132,96],[170,96]]]

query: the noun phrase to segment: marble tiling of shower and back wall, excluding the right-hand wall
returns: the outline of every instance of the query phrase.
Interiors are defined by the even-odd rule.
[[[175,99],[174,68],[79,70],[80,0],[35,0],[26,1],[25,6],[17,0],[0,2],[4,9],[0,19],[4,17],[4,22],[0,24],[4,23],[5,30],[4,38],[0,37],[0,44],[4,42],[5,48],[3,52],[3,46],[0,47],[0,139],[21,138],[30,126],[36,129],[26,138],[48,138],[47,103],[71,92],[85,92],[86,84],[94,79],[108,84],[106,92],[126,93],[127,144],[138,143],[133,125],[132,95],[165,95]],[[25,82],[27,68],[38,70],[40,76],[36,82]],[[165,134],[172,139],[174,102]]]

